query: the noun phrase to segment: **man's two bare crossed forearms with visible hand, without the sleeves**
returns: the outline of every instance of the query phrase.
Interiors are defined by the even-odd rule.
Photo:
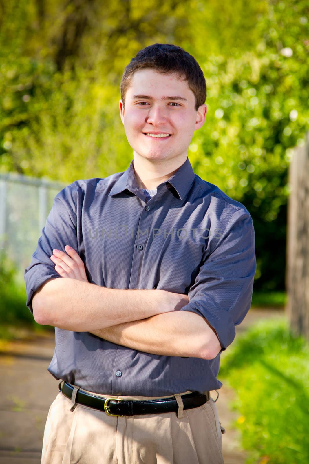
[[[32,298],[39,324],[90,332],[146,353],[213,359],[221,350],[206,318],[180,309],[186,295],[165,290],[117,290],[90,284],[84,264],[68,246],[50,259],[63,278],[47,280]]]

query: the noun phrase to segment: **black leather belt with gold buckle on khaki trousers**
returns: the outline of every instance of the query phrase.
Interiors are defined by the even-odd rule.
[[[59,384],[60,389],[60,384]],[[74,387],[64,382],[62,393],[72,398]],[[202,393],[188,393],[181,396],[183,409],[193,409],[206,403],[207,396]],[[99,411],[104,411],[108,416],[135,416],[138,414],[157,414],[160,412],[177,412],[178,404],[175,397],[162,398],[158,400],[125,401],[119,398],[102,398],[92,393],[79,389],[76,394],[77,404],[88,406]]]

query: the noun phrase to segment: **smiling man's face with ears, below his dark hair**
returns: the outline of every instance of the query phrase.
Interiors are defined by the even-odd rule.
[[[193,133],[202,127],[207,106],[195,111],[195,96],[183,79],[152,69],[136,71],[120,117],[134,150],[152,161],[185,161]],[[160,135],[154,137],[153,135]]]

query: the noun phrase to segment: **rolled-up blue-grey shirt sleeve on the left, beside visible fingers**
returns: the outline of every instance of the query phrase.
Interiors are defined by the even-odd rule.
[[[71,185],[63,188],[55,197],[42,235],[38,239],[37,249],[32,255],[31,264],[25,269],[26,306],[32,314],[32,296],[35,291],[50,278],[60,277],[50,256],[55,248],[64,251],[65,245],[78,250],[76,206]]]

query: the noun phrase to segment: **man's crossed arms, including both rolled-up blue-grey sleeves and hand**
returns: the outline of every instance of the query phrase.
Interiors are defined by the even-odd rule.
[[[250,214],[228,206],[220,218],[225,232],[208,243],[188,296],[105,288],[88,282],[78,253],[65,247],[78,249],[76,199],[66,187],[25,270],[27,306],[39,324],[90,332],[146,353],[214,359],[233,342],[235,325],[250,308],[256,271]],[[51,258],[56,246],[60,254]]]

